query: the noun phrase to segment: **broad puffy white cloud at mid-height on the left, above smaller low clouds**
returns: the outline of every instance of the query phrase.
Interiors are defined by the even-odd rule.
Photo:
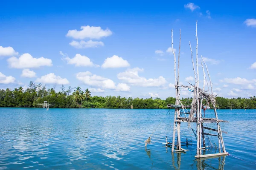
[[[25,53],[19,58],[11,57],[7,59],[11,68],[38,68],[41,66],[52,66],[52,60],[44,57],[33,58],[32,55]]]

